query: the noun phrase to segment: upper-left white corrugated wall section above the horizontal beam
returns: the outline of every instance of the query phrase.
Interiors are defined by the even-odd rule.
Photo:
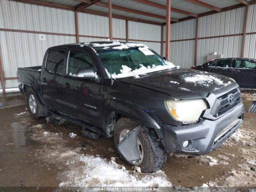
[[[0,1],[0,28],[75,34],[72,11]]]

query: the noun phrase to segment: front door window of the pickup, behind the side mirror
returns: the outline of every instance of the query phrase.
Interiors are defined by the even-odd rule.
[[[70,51],[68,59],[68,75],[76,76],[78,69],[92,69],[96,72],[90,56],[80,51]]]

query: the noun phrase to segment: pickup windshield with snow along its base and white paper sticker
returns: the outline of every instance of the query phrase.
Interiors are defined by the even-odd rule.
[[[96,48],[95,50],[108,77],[111,72],[112,78],[129,76],[139,78],[142,74],[175,67],[147,46],[125,49]]]

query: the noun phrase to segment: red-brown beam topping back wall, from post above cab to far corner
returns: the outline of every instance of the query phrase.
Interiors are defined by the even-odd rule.
[[[85,10],[82,10],[81,12],[92,14],[92,15],[100,15],[100,16],[108,17],[108,13],[103,13],[103,12],[98,12],[98,11],[93,11],[93,10],[85,9]],[[121,16],[121,15],[115,15],[115,14],[112,14],[112,18],[129,20],[129,21],[136,21],[136,22],[142,22],[142,23],[148,23],[148,24],[160,25],[160,26],[162,25],[162,23],[158,23],[158,22],[154,22],[154,21],[137,19],[137,18],[126,17],[126,16]]]

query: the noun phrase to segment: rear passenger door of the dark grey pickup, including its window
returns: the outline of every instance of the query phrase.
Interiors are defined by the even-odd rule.
[[[41,72],[40,84],[44,102],[52,109],[65,112],[65,98],[62,88],[65,50],[48,52],[44,71]]]

